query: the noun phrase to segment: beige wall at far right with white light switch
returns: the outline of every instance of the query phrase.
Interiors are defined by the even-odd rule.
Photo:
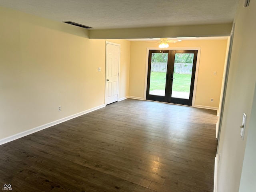
[[[255,1],[250,1],[248,8],[240,1],[234,20],[234,42],[218,146],[218,192],[256,191],[255,102],[252,105],[256,94],[255,10]],[[240,125],[244,112],[248,118],[242,140]]]

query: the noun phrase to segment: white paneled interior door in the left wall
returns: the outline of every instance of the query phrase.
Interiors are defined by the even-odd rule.
[[[106,42],[106,105],[118,101],[120,45]]]

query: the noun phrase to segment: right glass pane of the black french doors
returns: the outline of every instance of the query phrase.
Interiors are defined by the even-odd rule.
[[[194,53],[176,53],[172,97],[189,99]]]

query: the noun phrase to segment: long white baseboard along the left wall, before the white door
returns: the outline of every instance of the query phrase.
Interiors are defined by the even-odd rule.
[[[50,122],[50,123],[47,123],[47,124],[44,124],[44,125],[41,125],[41,126],[32,128],[32,129],[30,129],[30,130],[26,130],[26,131],[24,131],[24,132],[20,132],[20,133],[17,133],[17,134],[15,134],[15,135],[12,135],[12,136],[9,136],[9,137],[0,139],[0,145],[5,144],[5,143],[8,143],[8,142],[11,142],[11,141],[16,140],[16,139],[19,139],[19,138],[22,138],[22,137],[24,137],[24,136],[30,135],[30,134],[35,133],[35,132],[38,132],[38,131],[40,131],[40,130],[49,128],[49,127],[51,127],[51,126],[60,124],[60,123],[62,123],[62,122],[68,121],[68,120],[70,120],[70,119],[74,119],[74,118],[79,117],[79,116],[81,116],[81,115],[84,115],[84,114],[86,114],[86,113],[89,113],[89,112],[98,110],[98,109],[100,109],[100,108],[103,108],[103,107],[105,107],[105,106],[106,106],[106,105],[103,104],[103,105],[100,105],[100,106],[97,106],[97,107],[94,107],[94,108],[85,110],[85,111],[83,111],[83,112],[80,112],[80,113],[77,113],[77,114],[74,114],[74,115],[71,115],[71,116],[68,116],[68,117],[65,117],[65,118],[56,120],[56,121],[54,121],[54,122]]]

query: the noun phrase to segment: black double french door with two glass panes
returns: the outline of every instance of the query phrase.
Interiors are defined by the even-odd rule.
[[[149,50],[146,100],[192,106],[197,50]]]

